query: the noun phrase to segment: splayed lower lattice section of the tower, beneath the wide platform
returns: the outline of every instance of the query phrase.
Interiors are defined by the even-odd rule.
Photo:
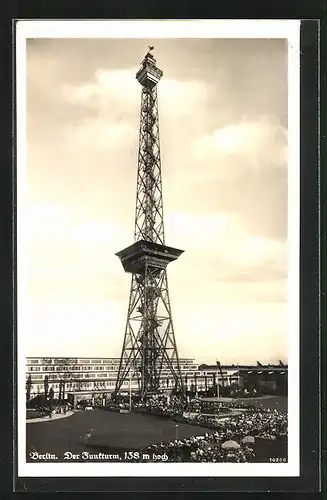
[[[132,369],[138,378],[141,393],[155,391],[159,387],[164,365],[171,372],[176,388],[183,391],[167,273],[166,270],[158,272],[156,268],[147,266],[144,276],[132,276],[123,357],[116,390],[120,390]]]

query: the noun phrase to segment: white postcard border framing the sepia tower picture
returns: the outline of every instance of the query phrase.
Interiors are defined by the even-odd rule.
[[[288,40],[288,463],[27,463],[25,419],[24,192],[26,190],[26,39],[28,38],[285,38]],[[16,25],[17,109],[17,360],[19,477],[298,477],[300,254],[300,21],[25,21]],[[291,91],[290,91],[291,89]],[[21,333],[19,333],[21,332]],[[36,424],[37,425],[37,424]]]

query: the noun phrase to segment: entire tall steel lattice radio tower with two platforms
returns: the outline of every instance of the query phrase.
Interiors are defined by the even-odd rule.
[[[153,48],[149,46],[136,74],[142,97],[134,243],[116,254],[132,282],[115,394],[133,377],[143,401],[168,386],[168,374],[184,395],[166,271],[183,250],[165,244],[157,101],[163,72],[156,66]]]

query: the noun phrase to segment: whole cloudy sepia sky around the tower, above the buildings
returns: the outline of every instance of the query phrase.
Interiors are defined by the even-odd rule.
[[[119,356],[153,40],[27,42],[29,356]],[[287,42],[155,41],[181,357],[287,360]],[[22,334],[22,333],[21,333]]]

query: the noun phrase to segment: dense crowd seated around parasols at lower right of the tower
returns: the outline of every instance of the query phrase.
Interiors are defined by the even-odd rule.
[[[285,444],[287,439],[287,414],[276,409],[215,402],[212,411],[203,414],[203,402],[199,399],[185,405],[178,398],[160,396],[137,406],[176,422],[211,430],[204,435],[153,444],[142,449],[141,456],[159,454],[172,462],[253,462],[259,440],[265,440],[267,447],[267,442]]]

